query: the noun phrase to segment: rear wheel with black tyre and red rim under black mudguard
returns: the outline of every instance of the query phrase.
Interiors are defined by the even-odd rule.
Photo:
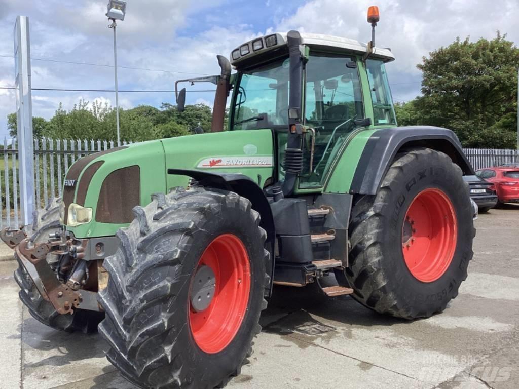
[[[409,214],[419,219],[415,226]],[[353,297],[406,319],[443,311],[467,277],[474,234],[460,168],[427,148],[399,154],[376,195],[361,197],[352,209],[346,277]],[[415,241],[426,246],[410,256]]]

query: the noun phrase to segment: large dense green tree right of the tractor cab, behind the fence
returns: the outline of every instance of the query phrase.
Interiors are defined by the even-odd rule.
[[[423,59],[421,98],[398,107],[402,122],[456,132],[466,147],[514,147],[519,49],[506,35],[469,38]]]

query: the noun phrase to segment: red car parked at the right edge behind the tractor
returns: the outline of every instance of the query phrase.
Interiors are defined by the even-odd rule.
[[[476,176],[496,186],[499,203],[519,203],[519,169],[506,166],[480,169]]]

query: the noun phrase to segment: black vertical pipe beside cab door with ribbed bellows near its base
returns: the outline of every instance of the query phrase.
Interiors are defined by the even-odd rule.
[[[301,103],[305,58],[301,52],[303,40],[297,31],[289,31],[286,40],[290,54],[289,132],[283,161],[285,179],[281,188],[283,195],[288,197],[294,192],[297,176],[303,171]]]

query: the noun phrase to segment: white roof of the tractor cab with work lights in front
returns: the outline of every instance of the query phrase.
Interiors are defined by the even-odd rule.
[[[301,33],[301,38],[304,45],[315,49],[335,49],[334,51],[338,49],[339,51],[344,50],[345,53],[357,54],[364,54],[367,51],[366,43],[340,36]],[[230,54],[230,62],[233,65],[237,65],[258,54],[280,49],[283,46],[286,47],[286,33],[269,34],[254,38],[234,49]],[[394,55],[389,48],[375,47],[370,57],[381,59],[384,62],[394,60]]]

